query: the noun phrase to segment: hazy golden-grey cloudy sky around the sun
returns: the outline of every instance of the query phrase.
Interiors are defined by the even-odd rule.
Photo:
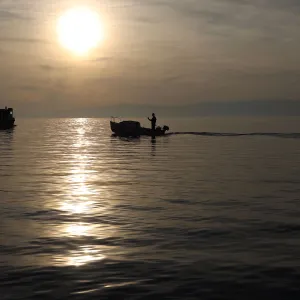
[[[56,24],[82,4],[99,13],[105,37],[76,57]],[[295,113],[299,12],[298,0],[0,0],[0,106],[78,116],[267,101]]]

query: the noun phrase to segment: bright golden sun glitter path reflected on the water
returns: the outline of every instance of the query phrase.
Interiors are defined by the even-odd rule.
[[[92,157],[89,154],[88,147],[90,141],[86,135],[86,126],[89,126],[86,119],[76,119],[74,122],[74,130],[76,138],[73,139],[73,144],[70,145],[73,162],[69,175],[66,178],[66,189],[68,191],[66,199],[59,204],[59,210],[64,214],[78,219],[78,222],[67,222],[58,232],[60,237],[84,239],[86,237],[97,238],[105,237],[105,231],[99,228],[97,224],[81,221],[82,217],[90,216],[95,213],[95,201],[91,200],[99,195],[99,190],[93,189],[88,180],[91,176],[98,176],[94,174],[95,171],[91,170]],[[101,194],[101,193],[100,193]],[[105,193],[104,193],[105,194]],[[105,210],[105,206],[101,206],[101,210]],[[77,249],[69,250],[67,255],[55,257],[55,264],[69,265],[69,266],[82,266],[87,263],[104,259],[101,246],[97,245],[78,245]]]

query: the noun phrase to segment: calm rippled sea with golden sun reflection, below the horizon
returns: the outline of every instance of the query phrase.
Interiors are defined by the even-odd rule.
[[[159,121],[0,132],[1,300],[300,299],[300,120]]]

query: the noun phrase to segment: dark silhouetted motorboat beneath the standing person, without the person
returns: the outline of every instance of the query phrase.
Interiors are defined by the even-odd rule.
[[[162,136],[169,130],[168,126],[156,127],[155,131],[151,128],[142,127],[140,122],[137,121],[120,121],[116,122],[112,117],[110,121],[111,131],[117,136],[139,137],[141,135],[147,136]]]

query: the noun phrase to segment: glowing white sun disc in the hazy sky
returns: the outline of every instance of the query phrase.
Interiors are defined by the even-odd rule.
[[[99,15],[84,7],[63,14],[58,20],[57,32],[62,46],[78,55],[97,47],[104,35]]]

